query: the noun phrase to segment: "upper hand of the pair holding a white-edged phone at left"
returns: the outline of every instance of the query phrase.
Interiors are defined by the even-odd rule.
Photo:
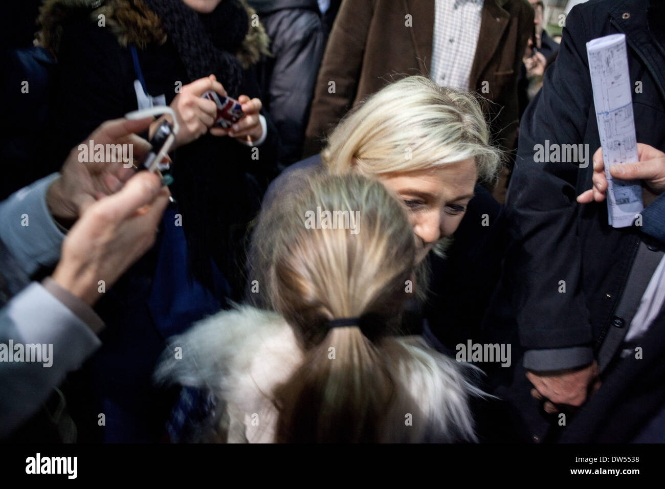
[[[134,132],[146,130],[152,121],[152,117],[109,120],[81,144],[88,146],[89,140],[92,140],[93,145],[104,145],[104,148],[106,144],[131,144],[133,158],[140,161],[150,150],[150,143]],[[88,154],[88,162],[80,162],[79,154],[78,147],[71,150],[61,169],[60,178],[47,191],[47,206],[53,217],[59,220],[75,220],[90,204],[120,190],[134,174],[134,162],[123,162],[122,152],[115,154],[115,162],[95,162],[94,154]]]

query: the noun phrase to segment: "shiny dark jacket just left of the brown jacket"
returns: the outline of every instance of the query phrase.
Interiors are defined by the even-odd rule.
[[[300,159],[328,35],[316,0],[249,0],[271,39],[261,64],[263,104],[281,138],[279,163]]]

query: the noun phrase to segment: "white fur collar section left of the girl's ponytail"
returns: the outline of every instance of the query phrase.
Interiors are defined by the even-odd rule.
[[[241,306],[199,321],[168,343],[154,373],[156,383],[213,394],[227,411],[226,418],[215,420],[228,432],[226,441],[274,440],[277,410],[271,393],[303,361],[283,317]],[[253,417],[260,422],[252,422]],[[208,440],[205,434],[202,439]]]

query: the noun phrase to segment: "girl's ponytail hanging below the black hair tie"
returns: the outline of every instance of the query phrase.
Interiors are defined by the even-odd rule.
[[[358,327],[332,328],[275,391],[279,442],[376,442],[393,393],[385,361]]]

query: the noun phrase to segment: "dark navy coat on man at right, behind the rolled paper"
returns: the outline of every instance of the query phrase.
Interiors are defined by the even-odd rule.
[[[665,56],[648,29],[648,8],[648,0],[591,0],[567,17],[559,57],[521,122],[505,204],[509,245],[497,290],[497,297],[510,300],[495,303],[496,314],[485,321],[485,341],[519,341],[521,348],[533,350],[579,347],[595,355],[614,319],[642,234],[636,227],[608,226],[604,202],[576,201],[592,186],[591,156],[600,146],[585,43],[626,35],[630,81],[642,85],[632,94],[637,141],[664,150]],[[588,144],[589,166],[536,162],[535,145],[546,140]],[[562,280],[565,293],[559,292]],[[517,366],[514,380],[502,381],[513,383],[509,393],[540,436],[547,423],[541,423],[538,406],[529,399],[523,367]]]

